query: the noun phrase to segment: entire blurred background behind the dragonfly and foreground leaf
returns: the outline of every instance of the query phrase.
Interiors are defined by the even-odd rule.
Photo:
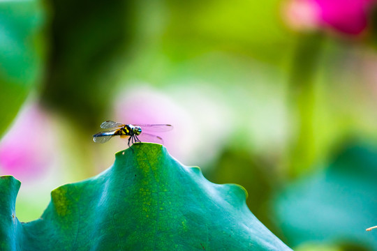
[[[377,1],[0,1],[0,174],[21,221],[112,165],[105,120],[170,123],[295,250],[377,250]]]

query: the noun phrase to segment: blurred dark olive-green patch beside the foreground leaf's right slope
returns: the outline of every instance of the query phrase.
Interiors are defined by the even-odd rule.
[[[214,170],[205,172],[214,183],[237,183],[248,191],[246,204],[251,212],[269,229],[274,229],[271,222],[272,211],[269,198],[280,188],[279,170],[274,168],[270,160],[263,156],[253,155],[248,151],[225,149],[214,164]],[[212,172],[211,172],[212,171]]]

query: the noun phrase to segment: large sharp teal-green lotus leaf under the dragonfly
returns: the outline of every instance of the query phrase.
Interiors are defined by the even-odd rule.
[[[53,190],[41,218],[22,225],[11,218],[20,183],[3,177],[2,250],[290,250],[249,211],[241,186],[207,181],[158,144],[115,157]]]

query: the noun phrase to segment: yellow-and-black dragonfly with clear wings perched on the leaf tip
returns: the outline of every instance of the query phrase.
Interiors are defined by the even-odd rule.
[[[146,142],[156,142],[163,144],[163,139],[159,136],[149,134],[150,132],[166,132],[172,130],[171,125],[167,124],[124,124],[114,121],[105,121],[101,123],[101,128],[110,129],[103,132],[98,132],[93,135],[93,141],[96,143],[108,142],[114,136],[120,136],[121,138],[128,138],[128,146],[136,142],[141,142],[139,137]]]

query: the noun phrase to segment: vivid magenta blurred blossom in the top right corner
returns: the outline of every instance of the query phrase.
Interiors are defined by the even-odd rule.
[[[293,29],[328,27],[357,35],[367,29],[369,10],[376,0],[288,0],[283,8]]]

